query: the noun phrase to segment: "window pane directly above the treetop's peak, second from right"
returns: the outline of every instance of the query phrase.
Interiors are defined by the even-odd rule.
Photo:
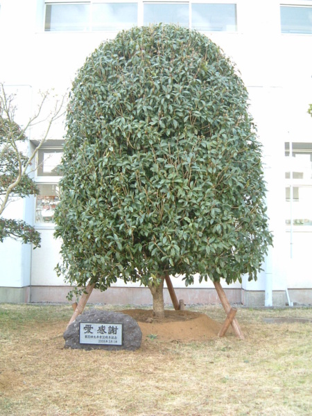
[[[144,26],[157,23],[174,23],[189,26],[188,3],[145,3]]]

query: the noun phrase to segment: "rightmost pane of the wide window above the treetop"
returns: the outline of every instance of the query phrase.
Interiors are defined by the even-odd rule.
[[[236,4],[205,4],[192,5],[192,28],[198,31],[236,31]]]

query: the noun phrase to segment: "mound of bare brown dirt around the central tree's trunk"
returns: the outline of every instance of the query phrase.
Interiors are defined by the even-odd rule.
[[[204,313],[191,311],[165,311],[165,318],[158,320],[153,317],[152,310],[127,309],[127,313],[137,321],[142,331],[142,340],[157,338],[164,341],[208,340],[216,338],[221,324],[212,320]]]

